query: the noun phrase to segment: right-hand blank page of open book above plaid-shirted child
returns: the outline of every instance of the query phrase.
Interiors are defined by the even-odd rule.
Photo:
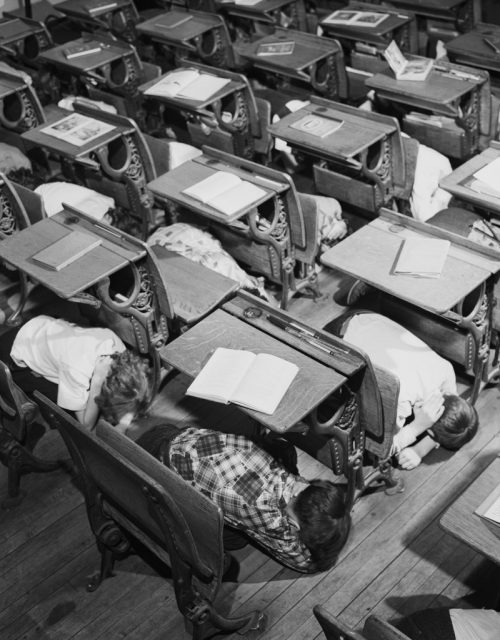
[[[230,400],[272,415],[298,371],[298,366],[293,362],[269,353],[259,353]]]

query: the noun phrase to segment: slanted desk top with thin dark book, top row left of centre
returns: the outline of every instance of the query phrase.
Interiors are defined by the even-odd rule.
[[[182,21],[183,19],[185,19],[184,22]],[[174,26],[166,27],[164,26],[166,24]],[[140,22],[136,25],[136,30],[138,33],[149,36],[157,42],[183,46],[195,51],[196,46],[190,41],[215,27],[220,27],[221,24],[224,24],[223,19],[213,13],[186,12],[173,9]]]

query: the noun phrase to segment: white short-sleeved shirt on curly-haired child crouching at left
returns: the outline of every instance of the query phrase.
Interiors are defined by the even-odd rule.
[[[125,345],[111,329],[79,327],[41,315],[21,327],[10,355],[18,366],[58,385],[60,407],[81,411],[87,406],[97,359],[122,351]]]

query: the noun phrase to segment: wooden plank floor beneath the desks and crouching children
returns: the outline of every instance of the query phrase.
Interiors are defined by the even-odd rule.
[[[298,300],[294,313],[321,326],[332,313],[332,291],[318,303]],[[182,397],[182,379],[172,383],[170,406],[156,407],[152,420],[168,414],[179,423],[241,420],[236,410],[207,415],[201,401]],[[196,403],[197,402],[197,403]],[[499,390],[485,390],[477,403],[476,438],[451,455],[433,452],[419,468],[403,472],[405,492],[364,496],[353,512],[354,527],[340,561],[327,573],[301,575],[251,546],[235,552],[237,582],[225,582],[220,598],[234,612],[266,613],[262,640],[322,638],[312,607],[321,603],[353,627],[375,612],[398,620],[408,613],[454,604],[490,606],[498,569],[439,528],[443,509],[500,451]],[[65,456],[57,433],[41,445],[46,456]],[[330,471],[300,455],[306,477]],[[0,469],[0,486],[5,486]],[[15,510],[0,512],[1,640],[186,640],[171,581],[139,556],[117,565],[115,577],[96,592],[85,590],[99,556],[85,507],[62,471],[31,475]],[[230,638],[241,636],[234,635]]]

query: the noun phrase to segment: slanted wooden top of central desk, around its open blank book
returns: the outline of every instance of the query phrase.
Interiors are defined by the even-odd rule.
[[[240,163],[244,164],[241,160]],[[253,163],[252,163],[253,164]],[[191,187],[202,180],[210,177],[218,171],[228,171],[239,176],[242,180],[251,182],[265,191],[265,195],[260,200],[252,203],[251,206],[242,207],[232,215],[220,213],[209,204],[205,204],[183,193],[184,189]],[[280,183],[265,177],[266,171],[271,171],[262,167],[262,175],[252,173],[250,169],[244,169],[238,165],[228,164],[222,160],[217,160],[210,156],[202,155],[189,160],[179,167],[167,171],[159,178],[148,183],[148,188],[160,201],[173,201],[187,207],[196,213],[212,218],[218,222],[229,223],[245,216],[249,210],[274,197],[276,193],[282,193],[289,188],[287,183]]]

